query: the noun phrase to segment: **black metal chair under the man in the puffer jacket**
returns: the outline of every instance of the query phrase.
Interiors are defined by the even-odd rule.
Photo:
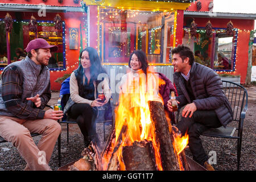
[[[240,168],[240,157],[241,157],[241,146],[242,146],[242,132],[243,132],[243,121],[245,119],[245,114],[248,109],[247,100],[248,94],[247,90],[234,82],[222,81],[224,86],[224,93],[228,98],[232,108],[233,108],[233,121],[237,122],[237,127],[218,127],[216,129],[211,128],[204,131],[201,135],[207,137],[217,137],[217,138],[230,138],[237,139],[237,170]],[[180,108],[177,112],[177,118],[179,116]],[[178,120],[177,120],[178,121]],[[233,136],[235,131],[237,135]]]

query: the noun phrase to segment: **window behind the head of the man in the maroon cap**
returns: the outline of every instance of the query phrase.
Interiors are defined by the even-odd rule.
[[[63,24],[64,26],[64,24]],[[1,47],[5,47],[5,49],[1,49],[3,52],[7,50],[6,48],[6,34],[5,34],[5,23],[0,23],[0,41]],[[63,27],[61,30],[56,30],[54,27],[54,23],[51,21],[43,22],[38,21],[38,32],[31,32],[28,30],[28,22],[22,21],[18,22],[14,20],[13,30],[10,32],[10,59],[11,63],[15,61],[20,61],[26,57],[27,52],[24,50],[27,47],[27,44],[36,38],[46,39],[50,45],[58,46],[57,52],[52,52],[52,57],[49,60],[48,68],[50,69],[63,69],[65,68],[64,56],[65,51],[63,51]],[[2,34],[4,32],[4,34]],[[3,45],[2,45],[3,44]],[[1,52],[1,56],[4,55],[7,51]],[[7,57],[7,56],[6,56]],[[5,67],[6,63],[4,61],[0,62],[0,67]]]

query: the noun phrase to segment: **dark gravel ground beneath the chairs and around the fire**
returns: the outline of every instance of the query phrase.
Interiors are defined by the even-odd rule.
[[[251,90],[255,94],[256,87]],[[249,92],[250,96],[250,92]],[[240,170],[255,171],[255,107],[256,97],[249,97],[249,109],[246,113],[245,122],[243,125],[242,152]],[[234,123],[232,123],[233,125]],[[104,145],[102,123],[97,124],[97,133],[100,135],[100,140]],[[79,127],[76,124],[69,125],[69,144],[67,144],[67,125],[61,124],[61,166],[71,163],[81,158],[81,152],[84,148],[84,142]],[[108,136],[111,125],[106,126],[106,136]],[[35,143],[38,142],[40,136],[34,137]],[[214,169],[218,171],[233,171],[237,169],[237,140],[201,137],[203,146],[207,154],[210,151],[216,151],[217,161],[213,164]],[[191,153],[187,148],[185,154],[191,157]],[[21,171],[26,166],[26,162],[22,159],[11,143],[0,144],[0,171]],[[58,155],[57,143],[49,162],[49,166],[53,170],[57,170]]]

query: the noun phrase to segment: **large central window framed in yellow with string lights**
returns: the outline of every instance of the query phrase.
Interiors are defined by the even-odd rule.
[[[128,63],[135,49],[144,51],[149,63],[170,63],[163,60],[163,49],[167,48],[163,41],[168,42],[169,56],[174,42],[174,13],[100,7],[99,14],[99,48],[104,63]],[[164,26],[168,27],[168,38],[164,37]]]

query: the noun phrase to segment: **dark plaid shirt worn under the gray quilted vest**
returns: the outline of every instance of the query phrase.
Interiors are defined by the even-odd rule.
[[[31,107],[28,102],[22,102],[22,84],[23,75],[18,67],[11,66],[2,74],[2,98],[6,109],[17,118],[22,119],[43,119],[45,111],[43,110],[51,99],[51,85],[47,85],[47,93],[40,95],[41,106]]]

